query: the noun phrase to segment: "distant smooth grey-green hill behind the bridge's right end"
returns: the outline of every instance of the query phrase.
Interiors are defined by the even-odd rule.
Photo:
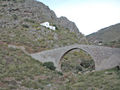
[[[120,46],[120,24],[115,24],[87,36],[89,42],[108,46]]]

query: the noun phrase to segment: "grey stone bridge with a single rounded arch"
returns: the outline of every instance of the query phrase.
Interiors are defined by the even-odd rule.
[[[61,58],[71,50],[82,49],[93,58],[95,70],[104,70],[120,65],[120,49],[95,45],[71,45],[57,49],[30,54],[41,62],[53,62],[57,70],[61,70]]]

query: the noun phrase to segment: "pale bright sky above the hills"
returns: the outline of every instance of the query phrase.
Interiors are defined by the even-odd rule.
[[[120,0],[38,0],[52,9],[57,17],[75,22],[84,35],[120,23]]]

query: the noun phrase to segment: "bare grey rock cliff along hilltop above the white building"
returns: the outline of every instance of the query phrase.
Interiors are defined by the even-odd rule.
[[[34,19],[37,22],[48,21],[55,24],[56,26],[63,27],[64,29],[69,29],[71,32],[81,34],[74,22],[69,21],[66,17],[57,18],[56,14],[50,10],[48,6],[44,5],[41,2],[35,0],[16,0],[16,3],[13,1],[1,1],[1,3],[3,6],[7,5],[6,8],[2,8],[3,11],[6,11],[6,14],[14,13],[21,18],[27,17]]]

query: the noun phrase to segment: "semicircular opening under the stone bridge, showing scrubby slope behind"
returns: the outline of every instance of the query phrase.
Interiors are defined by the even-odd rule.
[[[95,62],[92,56],[80,48],[72,48],[66,51],[59,62],[62,72],[83,73],[95,70]]]

